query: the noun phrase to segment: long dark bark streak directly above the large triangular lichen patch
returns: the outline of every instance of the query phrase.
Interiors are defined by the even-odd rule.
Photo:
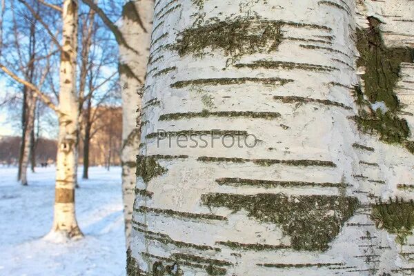
[[[274,180],[259,180],[259,179],[242,179],[224,177],[216,179],[219,185],[229,186],[262,186],[265,188],[275,188],[277,186],[282,187],[303,187],[303,186],[319,186],[319,187],[333,187],[333,188],[346,188],[348,185],[345,183],[317,183],[317,182],[304,182],[304,181],[274,181]]]

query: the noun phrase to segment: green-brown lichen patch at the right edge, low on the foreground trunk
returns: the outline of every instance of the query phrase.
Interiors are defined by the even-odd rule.
[[[385,229],[395,234],[395,242],[406,244],[408,235],[413,235],[414,228],[414,202],[402,199],[390,199],[387,203],[380,202],[373,206],[371,218],[377,228]]]

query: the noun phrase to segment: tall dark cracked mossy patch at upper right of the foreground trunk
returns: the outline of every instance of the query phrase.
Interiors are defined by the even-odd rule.
[[[414,153],[413,143],[407,141],[410,129],[405,119],[397,116],[400,101],[393,91],[399,79],[400,64],[412,62],[414,50],[410,48],[386,48],[381,37],[381,22],[368,17],[368,30],[357,30],[357,50],[361,57],[357,66],[364,66],[364,92],[357,87],[355,97],[359,105],[359,115],[355,121],[359,129],[380,137],[388,144],[402,144]],[[378,108],[372,110],[371,103],[384,102],[386,112]]]

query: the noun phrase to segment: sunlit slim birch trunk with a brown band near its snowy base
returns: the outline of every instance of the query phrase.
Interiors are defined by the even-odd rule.
[[[79,101],[76,92],[78,1],[63,1],[59,90],[59,138],[56,165],[55,215],[51,234],[82,236],[75,217]]]

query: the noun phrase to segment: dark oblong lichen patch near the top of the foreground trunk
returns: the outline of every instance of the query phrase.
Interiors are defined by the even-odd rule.
[[[281,21],[253,21],[248,18],[219,21],[184,30],[174,48],[181,57],[190,54],[203,57],[208,49],[218,49],[232,57],[268,53],[277,50],[282,40],[281,26]]]

